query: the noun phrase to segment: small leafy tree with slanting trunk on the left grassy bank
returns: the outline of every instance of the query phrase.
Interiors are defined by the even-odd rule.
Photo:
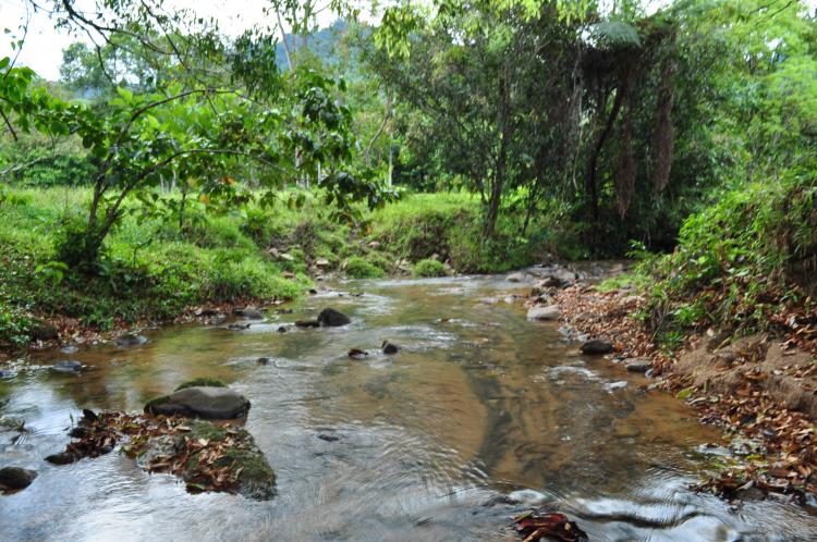
[[[196,40],[171,28],[173,20],[157,15],[154,4],[142,2],[138,17],[125,14],[101,22],[75,11],[70,1],[57,5],[65,10],[65,24],[105,36],[107,45],[97,48],[100,70],[111,67],[105,65],[107,53],[118,52],[114,46],[124,42],[133,50],[159,56],[172,51],[162,57],[170,65],[164,73],[183,75],[180,82],[168,77],[133,88],[115,87],[112,97],[102,96],[86,106],[34,86],[34,72],[14,67],[11,59],[0,61],[4,72],[0,113],[9,130],[77,136],[98,163],[87,221],[65,232],[61,252],[66,263],[93,270],[105,238],[125,212],[127,198],[158,200],[157,194],[147,193],[163,178],[204,177],[208,197],[234,204],[257,197],[271,204],[272,189],[303,172],[316,178],[344,219],[355,215],[352,201],[367,200],[373,207],[382,202],[378,184],[366,177],[366,171],[355,175],[351,168],[351,115],[336,98],[336,93],[345,89],[344,83],[304,69],[291,75],[288,90],[292,93],[286,95],[286,82],[275,62],[269,62],[275,58],[275,42],[264,33],[248,32],[231,46],[208,44],[194,54],[175,44]],[[113,2],[111,9],[120,14],[126,7],[133,2]],[[156,26],[146,30],[151,22]],[[87,67],[85,53],[81,48],[71,50]],[[214,57],[220,61],[219,70],[204,71],[200,60]],[[129,63],[125,76],[134,73],[134,65]],[[203,84],[202,73],[206,73],[204,82],[220,85]],[[83,76],[89,74],[86,70]],[[151,89],[145,88],[148,85]],[[264,190],[239,196],[240,183],[233,173],[248,161],[261,163],[269,173],[256,180],[263,182]],[[322,175],[317,174],[319,165]]]

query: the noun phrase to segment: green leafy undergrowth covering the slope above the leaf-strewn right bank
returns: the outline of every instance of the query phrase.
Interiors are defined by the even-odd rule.
[[[650,288],[653,324],[766,329],[781,299],[815,286],[814,275],[797,283],[789,271],[817,254],[816,194],[810,173],[791,172],[779,183],[725,193],[691,217],[673,254],[642,264],[658,279]]]

